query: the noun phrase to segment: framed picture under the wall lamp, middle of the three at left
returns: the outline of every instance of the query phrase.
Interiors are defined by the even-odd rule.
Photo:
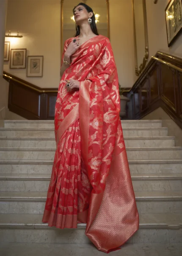
[[[10,68],[26,68],[27,49],[11,49]]]

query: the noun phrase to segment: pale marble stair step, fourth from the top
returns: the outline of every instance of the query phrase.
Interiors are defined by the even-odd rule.
[[[129,160],[182,159],[182,147],[126,148]],[[0,159],[54,159],[54,148],[0,148]]]

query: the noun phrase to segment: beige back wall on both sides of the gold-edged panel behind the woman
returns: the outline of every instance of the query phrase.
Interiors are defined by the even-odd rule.
[[[8,0],[6,31],[19,30],[19,39],[9,39],[11,48],[27,48],[28,55],[44,55],[44,76],[26,77],[25,69],[4,70],[41,88],[58,87],[60,70],[60,0]],[[17,18],[18,17],[18,18]],[[134,83],[132,1],[110,0],[110,41],[122,87]]]

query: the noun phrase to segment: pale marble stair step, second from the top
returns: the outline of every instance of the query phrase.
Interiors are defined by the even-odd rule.
[[[168,128],[123,128],[124,137],[167,136]],[[54,137],[54,129],[0,128],[0,137]]]

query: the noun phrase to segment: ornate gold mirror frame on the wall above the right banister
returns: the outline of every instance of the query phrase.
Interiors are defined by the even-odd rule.
[[[134,10],[134,0],[132,0],[132,11],[133,11],[133,28],[134,28],[134,50],[135,50],[135,74],[139,76],[146,66],[149,59],[149,40],[148,40],[148,30],[147,30],[147,19],[146,19],[146,0],[142,0],[143,3],[143,21],[144,21],[144,34],[145,34],[145,55],[143,57],[143,62],[138,67],[138,56],[137,56],[137,44],[136,44],[136,28],[135,28],[135,10]]]

